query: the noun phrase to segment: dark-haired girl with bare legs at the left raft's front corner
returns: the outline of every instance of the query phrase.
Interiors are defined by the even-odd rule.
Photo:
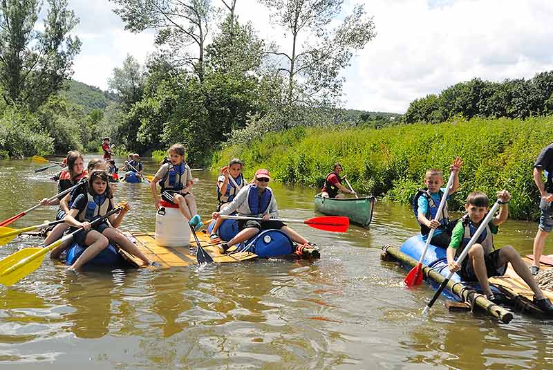
[[[101,170],[94,170],[90,178],[88,178],[88,192],[86,194],[79,194],[71,210],[65,216],[65,222],[73,228],[71,232],[77,228],[83,228],[80,232],[77,232],[73,237],[73,240],[81,245],[86,245],[86,249],[80,255],[79,258],[68,267],[68,270],[78,270],[84,263],[90,261],[106,249],[109,243],[117,244],[126,252],[135,255],[142,259],[145,264],[150,265],[151,261],[146,257],[136,246],[126,239],[123,234],[115,230],[117,228],[126,212],[129,212],[129,205],[126,204],[124,208],[118,213],[117,216],[112,214],[109,216],[109,222],[114,228],[104,221],[98,225],[91,226],[91,221],[98,217],[104,216],[107,212],[113,210],[113,196],[109,187],[108,173]]]

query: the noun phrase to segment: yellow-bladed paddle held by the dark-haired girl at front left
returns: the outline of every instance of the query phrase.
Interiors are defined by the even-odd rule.
[[[91,225],[104,221],[112,214],[122,210],[123,207],[124,205],[119,205],[99,219],[91,221]],[[23,279],[40,267],[42,261],[44,261],[44,255],[46,255],[48,251],[53,250],[62,243],[73,239],[73,236],[81,230],[83,230],[83,228],[79,228],[74,232],[71,232],[71,234],[67,234],[62,239],[59,239],[44,248],[25,248],[0,260],[0,284],[11,286],[17,283],[17,281]]]

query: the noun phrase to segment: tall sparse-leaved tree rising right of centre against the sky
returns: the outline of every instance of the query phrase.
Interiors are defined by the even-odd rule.
[[[348,66],[355,50],[364,48],[375,37],[372,17],[366,17],[363,6],[357,5],[339,26],[332,28],[343,0],[261,0],[261,3],[270,8],[273,21],[290,35],[288,50],[272,50],[273,55],[282,58],[279,70],[288,80],[288,105],[310,105],[313,98],[338,98],[340,71]]]

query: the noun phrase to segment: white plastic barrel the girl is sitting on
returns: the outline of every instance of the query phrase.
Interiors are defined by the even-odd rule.
[[[190,243],[190,226],[178,205],[161,201],[156,213],[156,244],[163,247],[186,247]]]

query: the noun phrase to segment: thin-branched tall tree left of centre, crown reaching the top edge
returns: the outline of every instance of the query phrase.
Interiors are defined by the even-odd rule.
[[[203,81],[205,41],[215,11],[210,0],[111,1],[119,6],[113,11],[126,30],[156,30],[156,44],[166,57],[176,66],[190,68]],[[190,45],[196,46],[195,53],[189,53]]]

